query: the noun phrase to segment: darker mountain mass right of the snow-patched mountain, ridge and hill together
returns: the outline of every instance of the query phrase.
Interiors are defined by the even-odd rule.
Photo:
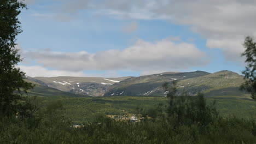
[[[219,95],[243,95],[239,86],[243,76],[232,71],[223,70],[217,73],[194,71],[189,73],[162,73],[147,76],[131,77],[110,86],[105,96],[114,95],[155,95],[164,96],[164,82],[177,80],[179,93],[195,95],[203,92],[207,97]]]

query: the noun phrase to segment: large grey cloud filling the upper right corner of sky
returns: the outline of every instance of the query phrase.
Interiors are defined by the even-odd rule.
[[[241,61],[241,41],[256,33],[256,1],[106,0],[108,14],[127,19],[165,19],[188,25],[207,40],[211,49],[221,49],[229,61]]]

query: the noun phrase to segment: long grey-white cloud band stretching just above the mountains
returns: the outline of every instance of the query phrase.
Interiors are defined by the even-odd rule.
[[[206,65],[209,59],[194,44],[176,44],[168,39],[149,43],[137,40],[124,50],[97,53],[22,51],[22,57],[32,59],[43,67],[65,71],[82,70],[166,70],[187,69]]]

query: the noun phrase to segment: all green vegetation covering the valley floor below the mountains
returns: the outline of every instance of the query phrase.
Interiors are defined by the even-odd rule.
[[[248,114],[237,118],[218,112],[228,110],[236,100],[242,101],[216,98],[214,104],[214,99],[206,103],[202,94],[171,93],[168,97],[39,97],[30,101],[27,112],[32,115],[1,117],[0,143],[255,143],[256,123]],[[232,104],[221,105],[224,101]],[[255,101],[245,101],[253,109]],[[32,113],[34,109],[38,110]],[[127,112],[144,119],[135,123],[106,117]],[[80,127],[72,127],[75,124]]]

